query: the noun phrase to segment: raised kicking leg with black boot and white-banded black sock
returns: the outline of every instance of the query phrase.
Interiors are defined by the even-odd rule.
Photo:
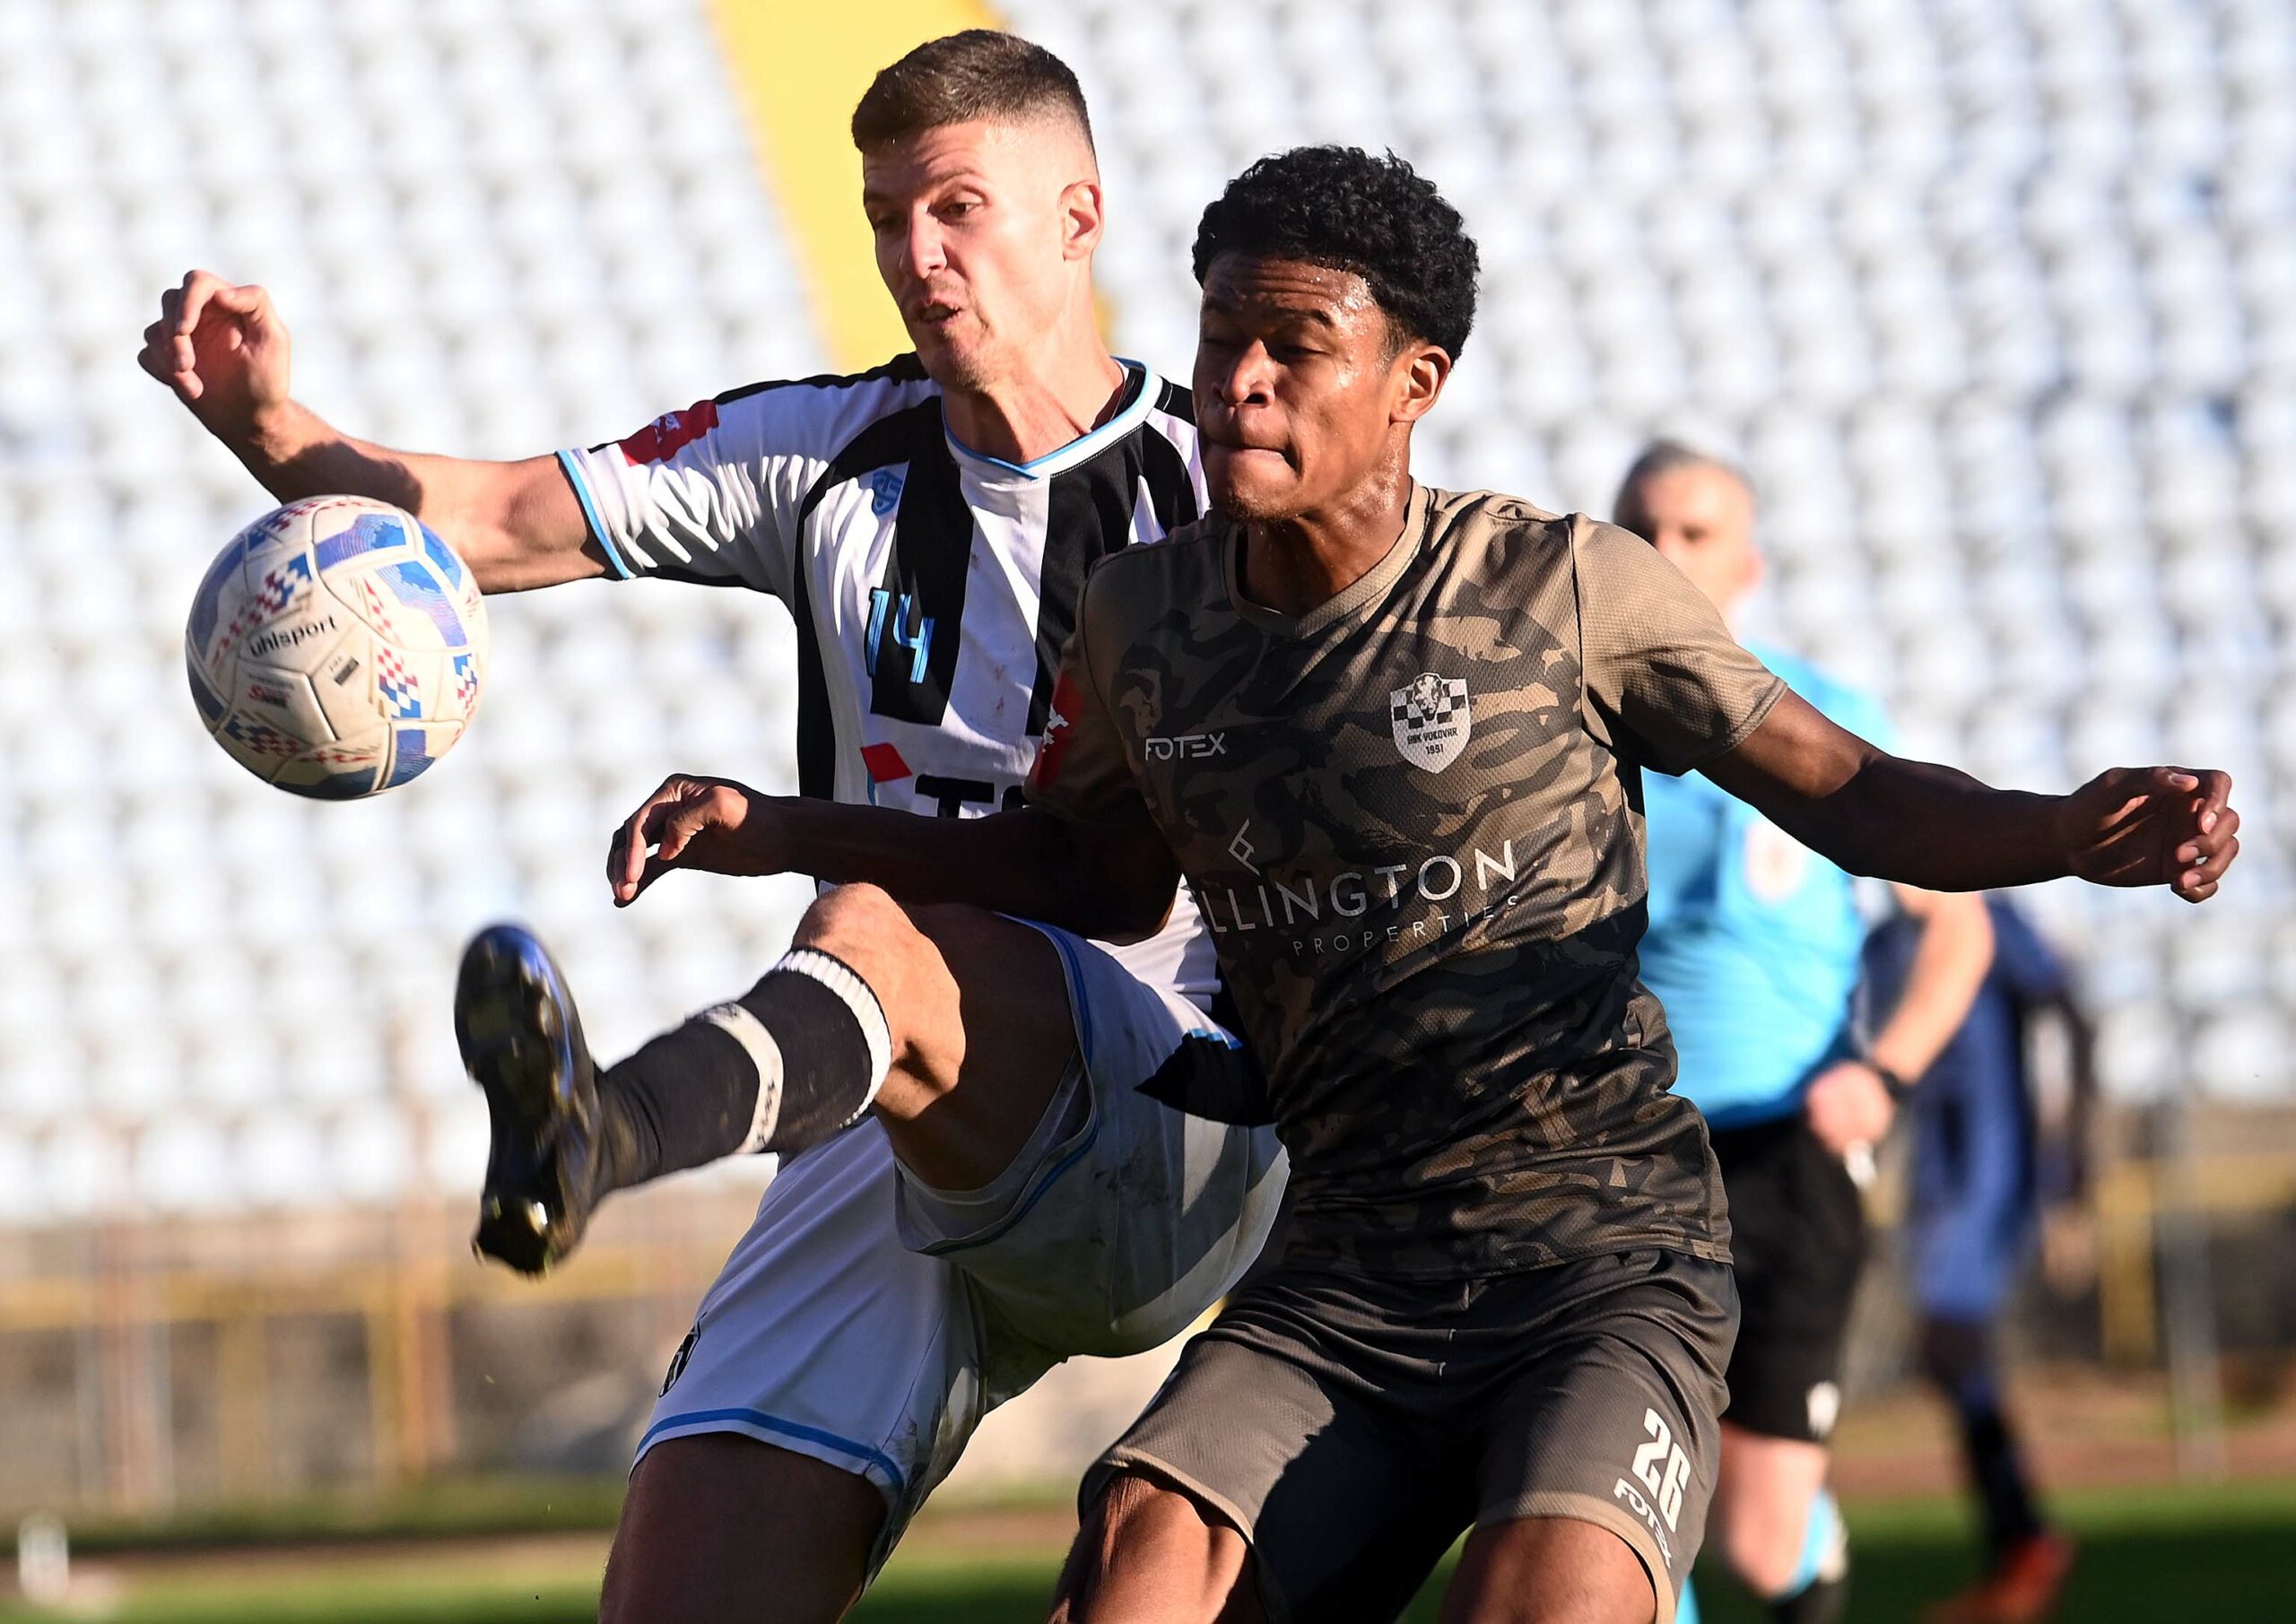
[[[455,1031],[494,1151],[475,1245],[540,1273],[622,1190],[737,1151],[790,1155],[875,1109],[928,1185],[978,1190],[1026,1144],[1075,1054],[1038,930],[840,887],[730,1004],[599,1073],[572,992],[517,926],[464,953]]]

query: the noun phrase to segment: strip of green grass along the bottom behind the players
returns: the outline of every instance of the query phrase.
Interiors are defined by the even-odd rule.
[[[2296,1482],[2218,1488],[2073,1493],[2062,1511],[2082,1539],[2082,1562],[2062,1613],[2066,1624],[2282,1624],[2296,1619]],[[1968,1523],[1938,1500],[1851,1507],[1857,1624],[1915,1619],[1970,1573]],[[326,1562],[250,1557],[236,1571],[209,1550],[197,1567],[122,1569],[119,1594],[99,1610],[41,1613],[0,1606],[7,1624],[110,1617],[119,1624],[576,1624],[595,1617],[595,1548],[581,1560],[519,1546],[441,1541]],[[866,1624],[1006,1624],[1042,1615],[1058,1550],[964,1557],[948,1546],[893,1562],[863,1603]],[[101,1567],[94,1557],[90,1564]],[[567,1571],[579,1567],[581,1571]],[[1407,1615],[1433,1619],[1435,1596]],[[1706,1583],[1706,1617],[1756,1624],[1720,1583]]]

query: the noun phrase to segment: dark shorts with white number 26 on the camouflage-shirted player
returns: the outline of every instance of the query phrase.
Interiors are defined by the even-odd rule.
[[[1669,1624],[1706,1530],[1729,1266],[1621,1252],[1481,1279],[1277,1263],[1187,1344],[1084,1479],[1233,1523],[1272,1619],[1378,1619],[1469,1523],[1570,1516],[1642,1557]]]

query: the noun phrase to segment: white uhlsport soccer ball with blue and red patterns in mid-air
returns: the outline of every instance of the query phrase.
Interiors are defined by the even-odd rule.
[[[191,698],[264,783],[395,790],[448,753],[487,678],[468,565],[409,512],[310,496],[232,538],[191,600]]]

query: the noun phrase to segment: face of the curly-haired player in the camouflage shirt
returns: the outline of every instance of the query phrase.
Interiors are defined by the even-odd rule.
[[[1203,276],[1196,430],[1212,505],[1293,519],[1345,503],[1396,457],[1451,358],[1396,345],[1355,271],[1226,253]]]

